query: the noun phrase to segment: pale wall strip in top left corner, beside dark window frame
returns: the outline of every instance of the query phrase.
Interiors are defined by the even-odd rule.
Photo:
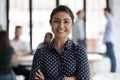
[[[0,0],[0,24],[4,30],[6,27],[6,0]]]

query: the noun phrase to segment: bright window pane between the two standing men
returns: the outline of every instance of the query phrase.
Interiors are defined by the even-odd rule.
[[[106,0],[86,1],[86,38],[88,52],[104,52],[102,45],[105,17],[103,10],[106,7]]]

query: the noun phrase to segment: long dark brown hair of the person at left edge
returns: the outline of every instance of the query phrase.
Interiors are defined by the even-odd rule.
[[[10,45],[8,32],[0,31],[0,54],[5,53],[6,48]]]

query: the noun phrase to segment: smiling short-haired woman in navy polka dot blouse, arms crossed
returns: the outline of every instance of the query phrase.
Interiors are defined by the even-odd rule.
[[[74,16],[70,8],[60,5],[50,15],[53,41],[37,49],[30,80],[90,80],[85,49],[69,40]]]

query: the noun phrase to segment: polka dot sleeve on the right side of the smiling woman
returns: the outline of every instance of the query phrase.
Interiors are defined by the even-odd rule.
[[[90,80],[89,63],[85,49],[78,47],[77,50],[77,80]]]

